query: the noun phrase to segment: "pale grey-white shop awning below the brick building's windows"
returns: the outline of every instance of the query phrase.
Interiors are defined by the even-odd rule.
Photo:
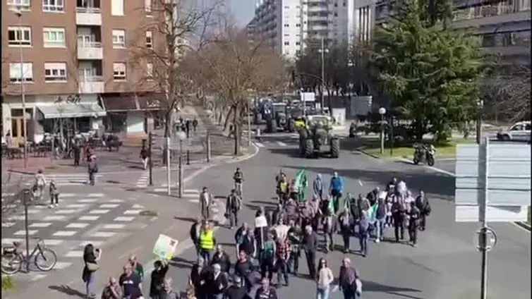
[[[37,106],[44,118],[72,118],[105,116],[105,111],[97,103],[55,104]]]

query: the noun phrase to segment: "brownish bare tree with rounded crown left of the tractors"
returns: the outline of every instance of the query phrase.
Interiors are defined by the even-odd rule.
[[[242,119],[250,97],[284,88],[288,76],[280,56],[262,43],[249,42],[241,30],[230,25],[225,30],[198,52],[198,74],[220,95],[219,105],[229,107],[226,123],[234,126],[234,154],[240,154]]]

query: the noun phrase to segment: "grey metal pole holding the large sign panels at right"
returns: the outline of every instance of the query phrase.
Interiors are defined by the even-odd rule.
[[[489,161],[489,152],[488,152],[488,138],[485,138],[485,141],[481,143],[478,147],[478,177],[482,181],[481,186],[483,187],[482,192],[479,192],[480,197],[479,211],[480,211],[480,222],[482,227],[480,228],[480,299],[486,299],[488,294],[488,250],[490,250],[490,245],[488,245],[488,161]]]

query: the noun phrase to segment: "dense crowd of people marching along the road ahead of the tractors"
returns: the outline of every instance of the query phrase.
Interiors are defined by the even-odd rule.
[[[236,172],[240,172],[237,169]],[[241,184],[243,176],[235,174],[235,183]],[[343,179],[334,173],[325,190],[325,182],[318,175],[312,183],[313,196],[305,200],[303,190],[295,180],[284,173],[276,178],[279,203],[277,209],[265,211],[261,207],[255,214],[254,226],[243,222],[238,226],[241,193],[231,190],[226,200],[226,217],[230,226],[238,226],[234,235],[236,261],[231,261],[222,245],[217,243],[213,224],[209,219],[212,202],[207,188],[200,194],[202,216],[191,226],[191,240],[198,255],[189,276],[188,285],[198,299],[275,299],[277,288],[289,286],[291,276],[301,276],[316,281],[316,297],[328,299],[330,292],[339,289],[345,299],[354,299],[362,293],[358,269],[349,257],[344,257],[337,272],[337,286],[332,286],[335,276],[322,257],[320,250],[337,250],[334,235],[343,240],[341,251],[356,253],[351,248],[351,238],[359,240],[358,253],[368,255],[368,243],[386,238],[388,228],[394,228],[394,240],[404,241],[404,230],[409,233],[409,243],[417,244],[418,231],[425,230],[430,214],[430,204],[423,191],[413,197],[403,181],[393,178],[385,190],[375,188],[367,195],[344,196]],[[321,235],[321,236],[320,236]],[[325,248],[319,248],[318,239],[325,239]],[[299,261],[305,255],[308,274],[299,271]],[[253,295],[255,294],[255,295]],[[253,295],[253,297],[252,297]]]

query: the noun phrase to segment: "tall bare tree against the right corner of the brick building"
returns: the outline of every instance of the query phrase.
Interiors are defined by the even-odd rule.
[[[191,72],[181,63],[187,51],[202,47],[203,37],[217,4],[196,8],[186,1],[156,0],[152,3],[153,21],[137,30],[129,49],[129,64],[138,71],[138,90],[157,90],[164,94],[159,102],[164,113],[164,135],[171,132],[172,116],[195,90]],[[144,9],[144,8],[143,8]],[[147,44],[145,32],[152,32]]]

